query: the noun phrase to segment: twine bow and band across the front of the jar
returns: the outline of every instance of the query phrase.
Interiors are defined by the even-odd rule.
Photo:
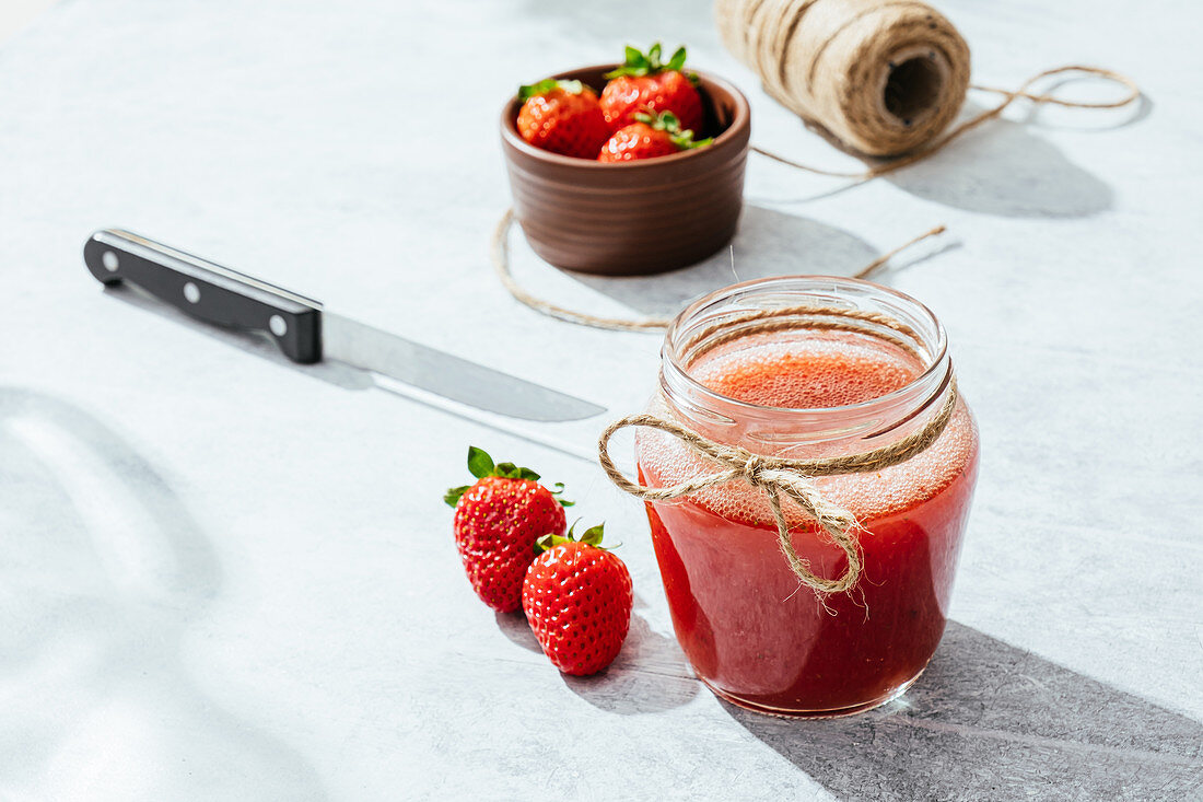
[[[956,408],[956,379],[949,373],[948,395],[940,412],[921,429],[897,442],[861,454],[828,456],[812,460],[790,460],[754,454],[739,446],[716,443],[677,423],[652,414],[628,415],[610,424],[598,440],[598,460],[610,480],[624,493],[644,501],[671,501],[682,499],[705,488],[741,480],[763,490],[769,499],[774,521],[777,525],[777,542],[799,580],[817,594],[835,594],[851,590],[860,578],[863,564],[857,530],[860,525],[855,515],[837,503],[825,499],[812,479],[823,476],[866,473],[905,462],[924,452],[940,437],[952,420]],[[610,458],[610,440],[627,427],[658,429],[681,441],[697,454],[715,462],[721,470],[699,476],[678,484],[653,488],[633,482],[622,473]],[[798,555],[789,536],[789,523],[782,511],[782,496],[796,503],[819,527],[826,532],[848,558],[843,574],[835,579],[820,577],[811,570],[808,560]]]

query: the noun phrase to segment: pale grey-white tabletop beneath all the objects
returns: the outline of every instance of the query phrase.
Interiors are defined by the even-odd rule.
[[[979,81],[1097,63],[1148,100],[1017,107],[843,191],[753,157],[741,278],[849,273],[949,225],[879,279],[947,324],[984,443],[932,667],[828,723],[692,679],[646,521],[591,464],[124,302],[79,258],[122,225],[633,409],[657,337],[539,317],[490,273],[496,116],[520,81],[663,37],[748,93],[755,141],[849,164],[722,52],[706,4],[72,0],[0,47],[0,796],[1198,795],[1203,14],[941,7]],[[725,255],[628,281],[515,255],[616,313],[731,278]],[[626,542],[635,620],[606,674],[562,678],[473,596],[439,499],[468,443]]]

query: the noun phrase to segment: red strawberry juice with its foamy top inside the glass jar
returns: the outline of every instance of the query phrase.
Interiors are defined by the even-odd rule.
[[[748,338],[704,355],[689,373],[729,399],[830,408],[881,397],[923,370],[879,340],[828,332]],[[769,453],[763,443],[737,444]],[[641,480],[653,486],[707,471],[659,435],[640,436],[636,455]],[[674,627],[698,676],[730,701],[783,714],[852,713],[903,691],[944,630],[977,464],[976,425],[959,402],[938,440],[911,460],[816,479],[864,526],[860,580],[822,600],[786,562],[763,491],[733,482],[647,503]],[[812,570],[841,576],[843,552],[798,508],[787,508],[787,518]]]

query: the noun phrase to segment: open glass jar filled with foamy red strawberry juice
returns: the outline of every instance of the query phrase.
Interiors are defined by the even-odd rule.
[[[794,308],[847,317],[757,319]],[[766,713],[838,715],[882,704],[919,677],[944,630],[978,467],[977,426],[954,388],[940,322],[869,282],[747,282],[677,317],[648,412],[715,443],[794,460],[863,454],[923,429],[946,403],[952,409],[935,441],[906,461],[812,479],[861,527],[863,567],[843,592],[800,583],[763,489],[735,479],[647,502],[677,639],[715,692]],[[641,429],[635,442],[647,486],[721,470],[662,431]],[[814,574],[846,572],[846,553],[813,519],[792,501],[783,513]]]

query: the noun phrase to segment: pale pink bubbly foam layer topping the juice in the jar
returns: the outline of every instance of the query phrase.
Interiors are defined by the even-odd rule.
[[[721,395],[768,407],[823,408],[860,403],[905,387],[924,370],[918,359],[882,341],[849,332],[806,332],[749,336],[703,354],[689,373]],[[664,409],[654,409],[664,414]],[[832,502],[864,523],[909,509],[935,496],[973,458],[973,421],[962,403],[940,438],[911,460],[871,473],[823,477],[814,484]],[[737,444],[766,453],[748,442]],[[877,442],[876,448],[885,443]],[[680,441],[646,432],[638,441],[639,464],[657,485],[712,473],[713,464],[697,456]],[[781,453],[782,456],[807,456]],[[689,496],[729,520],[772,526],[763,491],[743,483],[707,488]],[[810,523],[787,505],[792,524]]]

